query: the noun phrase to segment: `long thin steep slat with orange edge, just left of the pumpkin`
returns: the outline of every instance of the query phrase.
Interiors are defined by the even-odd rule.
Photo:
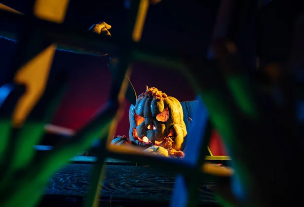
[[[129,11],[129,20],[128,24],[126,24],[125,28],[125,40],[133,40],[139,41],[141,38],[141,33],[146,17],[146,13],[149,7],[148,0],[140,0],[140,1],[132,1],[130,5]],[[111,91],[109,99],[114,104],[118,102],[120,105],[120,110],[118,111],[116,118],[112,121],[107,139],[102,138],[106,143],[106,146],[110,144],[110,139],[113,134],[115,134],[118,122],[122,118],[123,115],[123,101],[125,99],[125,94],[129,84],[129,78],[131,75],[131,56],[130,56],[130,45],[121,47],[121,55],[119,55],[118,60],[116,60],[116,64],[111,64],[110,67],[116,67],[115,74],[113,76],[116,77],[116,80],[112,82]],[[99,150],[100,153],[97,153],[97,165],[95,165],[93,169],[92,175],[92,183],[91,188],[88,193],[88,197],[85,201],[85,206],[97,207],[99,205],[99,194],[100,194],[100,183],[103,180],[103,170],[104,170],[104,160],[106,158],[106,154],[103,153],[104,145],[100,145]]]

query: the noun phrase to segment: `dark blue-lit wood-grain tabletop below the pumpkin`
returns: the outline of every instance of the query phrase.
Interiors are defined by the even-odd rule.
[[[83,196],[90,184],[93,165],[68,164],[50,179],[46,195]],[[200,181],[200,203],[216,204],[213,182]],[[175,176],[144,166],[106,166],[101,199],[170,200]]]

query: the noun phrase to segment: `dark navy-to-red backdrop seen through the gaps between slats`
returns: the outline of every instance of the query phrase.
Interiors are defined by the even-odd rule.
[[[31,1],[2,0],[0,2],[26,14]],[[239,39],[237,45],[243,51],[242,55],[246,55],[246,49],[250,48],[248,44],[251,44],[257,48],[264,62],[285,61],[288,58],[286,54],[290,47],[293,18],[296,16],[295,11],[301,7],[295,4],[299,1],[294,0],[273,2],[276,3],[268,6],[267,13],[260,13],[258,34],[250,31],[250,28],[253,28],[252,24],[255,24],[252,21],[255,19],[254,16],[249,15],[247,19],[236,16],[243,28],[235,33],[235,37]],[[158,5],[150,6],[141,41],[158,44],[160,47],[178,48],[184,53],[207,54],[219,3],[220,0],[166,0]],[[240,7],[242,8],[242,5]],[[123,0],[71,0],[65,23],[88,30],[93,24],[105,21],[112,26],[110,29],[112,36],[120,37],[124,35],[125,19],[126,9]],[[244,31],[246,35],[242,33]],[[259,44],[250,40],[255,35]],[[0,82],[6,78],[5,71],[12,61],[16,47],[17,43],[0,38]],[[252,56],[252,53],[249,55]],[[254,68],[252,60],[247,59],[249,68]],[[70,75],[70,87],[54,115],[53,124],[77,130],[106,102],[110,83],[115,81],[106,66],[107,61],[108,57],[105,56],[94,57],[66,51],[56,52],[50,76],[52,77],[60,70],[67,70]],[[148,85],[157,87],[179,101],[196,98],[183,75],[166,68],[134,63],[131,81],[137,95],[144,92]],[[127,113],[119,124],[117,134],[128,134],[129,107],[130,103],[126,100]],[[214,135],[210,145],[214,155],[223,153],[217,136]]]

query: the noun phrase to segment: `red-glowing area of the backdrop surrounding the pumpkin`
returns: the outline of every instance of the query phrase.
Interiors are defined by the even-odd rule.
[[[115,81],[115,78],[111,77],[106,66],[107,57],[96,58],[59,53],[66,60],[70,60],[72,56],[77,57],[77,63],[70,62],[67,66],[70,68],[71,84],[54,116],[53,124],[77,130],[107,101],[111,81]],[[81,64],[82,60],[85,61],[84,64]],[[130,79],[137,94],[144,92],[148,85],[159,88],[179,101],[195,100],[196,97],[184,76],[174,70],[138,63],[134,64]],[[127,99],[125,102],[125,114],[119,123],[116,135],[128,135],[130,102]],[[212,135],[210,149],[213,155],[225,154],[220,138],[215,132]]]

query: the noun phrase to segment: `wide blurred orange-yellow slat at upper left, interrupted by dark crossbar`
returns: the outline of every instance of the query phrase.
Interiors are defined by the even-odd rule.
[[[36,0],[33,13],[36,17],[56,23],[65,19],[68,0]],[[31,37],[30,37],[31,38]],[[39,43],[39,42],[37,42]],[[17,71],[14,81],[26,85],[13,113],[13,126],[21,127],[47,85],[56,46],[51,44]],[[31,48],[28,48],[31,49]]]

